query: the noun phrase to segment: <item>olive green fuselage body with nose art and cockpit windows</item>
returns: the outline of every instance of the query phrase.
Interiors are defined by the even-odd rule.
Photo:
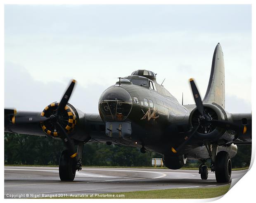
[[[147,82],[147,84],[138,85],[132,82],[121,81],[108,88],[113,89],[112,91],[117,91],[119,88],[125,89],[132,98],[132,107],[128,117],[122,121],[112,121],[118,123],[130,122],[132,128],[131,136],[129,139],[126,139],[128,142],[123,140],[121,136],[120,138],[112,139],[115,142],[127,143],[127,145],[135,147],[144,145],[145,148],[161,154],[171,153],[171,146],[179,145],[182,142],[175,132],[172,133],[168,128],[172,124],[171,117],[188,117],[189,110],[180,105],[178,100],[164,86],[157,84],[155,81],[141,76],[128,76],[126,79],[130,81],[140,79]],[[104,92],[102,95],[104,95]],[[101,110],[100,115],[102,116]],[[104,121],[103,117],[102,119]],[[182,124],[182,120],[180,121],[179,124]],[[187,119],[183,120],[183,122],[188,126]],[[106,128],[108,128],[107,123]]]

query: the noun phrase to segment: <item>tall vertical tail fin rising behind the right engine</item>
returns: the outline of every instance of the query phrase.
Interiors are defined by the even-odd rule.
[[[225,109],[225,70],[220,43],[217,44],[213,53],[211,75],[203,103],[216,103]]]

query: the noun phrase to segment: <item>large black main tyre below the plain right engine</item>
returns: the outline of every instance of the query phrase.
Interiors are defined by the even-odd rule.
[[[232,163],[228,152],[221,151],[217,154],[214,168],[217,182],[229,182],[232,172]]]

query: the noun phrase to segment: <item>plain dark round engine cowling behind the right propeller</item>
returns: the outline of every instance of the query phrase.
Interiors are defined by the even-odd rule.
[[[210,120],[227,120],[227,114],[224,109],[220,109],[213,104],[204,104],[204,112],[207,114],[208,119]],[[195,137],[202,140],[217,140],[226,132],[225,129],[216,126],[210,121],[200,122],[199,117],[201,114],[194,108],[190,113],[189,124],[193,127],[199,124],[199,128],[195,133]]]

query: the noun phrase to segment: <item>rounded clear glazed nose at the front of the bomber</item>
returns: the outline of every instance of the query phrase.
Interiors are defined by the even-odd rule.
[[[99,112],[103,121],[123,121],[132,109],[133,100],[125,89],[111,87],[100,96]]]

